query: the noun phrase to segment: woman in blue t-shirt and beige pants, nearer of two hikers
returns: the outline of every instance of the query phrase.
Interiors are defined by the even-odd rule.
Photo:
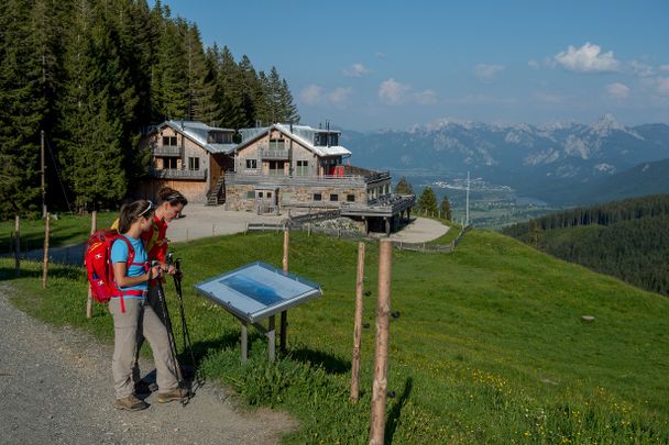
[[[111,263],[120,296],[109,301],[113,316],[114,352],[112,375],[117,400],[123,410],[143,410],[146,402],[134,394],[133,368],[138,355],[138,334],[141,332],[153,351],[158,385],[158,402],[183,400],[187,391],[179,388],[167,330],[151,305],[146,304],[149,282],[160,279],[161,265],[149,267],[150,257],[142,234],[153,224],[155,208],[151,201],[139,200],[121,209],[119,238],[111,245]]]

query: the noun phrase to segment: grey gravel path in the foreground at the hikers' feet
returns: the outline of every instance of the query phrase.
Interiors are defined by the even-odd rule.
[[[112,407],[110,345],[52,327],[15,309],[0,285],[0,443],[274,444],[296,422],[270,410],[240,413],[228,392],[207,383],[186,407]],[[142,370],[154,369],[142,363]]]

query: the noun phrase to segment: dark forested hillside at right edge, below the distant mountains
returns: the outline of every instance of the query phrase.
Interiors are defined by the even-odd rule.
[[[669,296],[669,194],[572,209],[503,233],[643,289]]]

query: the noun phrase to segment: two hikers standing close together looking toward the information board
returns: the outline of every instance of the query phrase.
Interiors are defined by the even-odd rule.
[[[132,262],[128,264],[129,245],[117,240],[111,247],[111,263],[120,297],[110,300],[114,320],[114,354],[112,374],[117,400],[114,405],[125,410],[142,410],[147,404],[135,394],[145,393],[147,385],[140,380],[138,358],[144,338],[149,340],[156,366],[158,403],[183,400],[188,391],[179,388],[176,358],[171,348],[167,324],[162,311],[163,272],[174,274],[174,265],[166,260],[167,223],[177,218],[188,203],[172,188],[158,191],[160,203],[139,200],[123,207],[116,229],[132,246]],[[152,266],[150,266],[152,265]]]

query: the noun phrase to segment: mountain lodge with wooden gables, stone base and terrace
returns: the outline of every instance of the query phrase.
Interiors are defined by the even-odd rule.
[[[409,218],[415,197],[393,194],[388,171],[351,166],[340,131],[277,123],[239,134],[234,143],[234,130],[194,121],[153,127],[140,142],[152,165],[140,193],[169,186],[190,202],[229,210],[339,210],[368,232],[390,233]]]

